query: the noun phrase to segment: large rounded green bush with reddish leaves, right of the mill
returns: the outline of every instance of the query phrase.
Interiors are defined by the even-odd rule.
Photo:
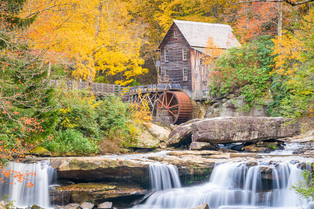
[[[220,97],[225,93],[240,88],[245,97],[245,109],[259,106],[262,97],[269,87],[269,72],[272,70],[273,42],[262,37],[250,44],[231,47],[216,60],[210,72],[210,94]]]

